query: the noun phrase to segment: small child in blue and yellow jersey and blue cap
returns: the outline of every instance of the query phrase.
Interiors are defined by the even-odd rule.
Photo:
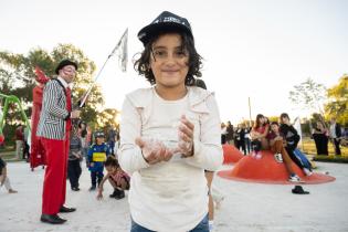
[[[96,182],[101,184],[104,173],[104,162],[109,155],[109,148],[105,144],[105,135],[103,131],[95,133],[95,144],[88,150],[88,170],[91,171],[92,187],[89,191],[96,189]]]

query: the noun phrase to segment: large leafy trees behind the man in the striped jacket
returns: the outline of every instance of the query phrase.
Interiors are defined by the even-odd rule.
[[[93,83],[92,75],[96,67],[82,50],[72,44],[59,44],[50,53],[40,48],[31,50],[28,55],[0,52],[0,64],[2,64],[0,92],[18,96],[24,106],[30,107],[31,93],[35,86],[34,67],[38,65],[48,76],[53,77],[55,76],[55,66],[63,59],[73,60],[78,64],[73,88],[73,103],[76,103]],[[82,109],[82,118],[85,122],[94,122],[103,105],[104,98],[101,88],[95,85],[86,106]]]

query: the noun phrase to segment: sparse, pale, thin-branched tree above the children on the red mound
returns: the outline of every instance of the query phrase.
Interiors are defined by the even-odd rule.
[[[317,84],[312,78],[307,78],[299,85],[295,85],[294,88],[295,91],[289,92],[289,99],[293,104],[324,114],[323,105],[327,97],[323,84]]]

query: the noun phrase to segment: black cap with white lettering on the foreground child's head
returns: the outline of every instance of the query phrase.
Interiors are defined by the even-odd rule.
[[[161,12],[150,24],[143,28],[138,33],[138,39],[146,45],[152,36],[162,31],[184,32],[193,39],[189,21],[169,11]]]

